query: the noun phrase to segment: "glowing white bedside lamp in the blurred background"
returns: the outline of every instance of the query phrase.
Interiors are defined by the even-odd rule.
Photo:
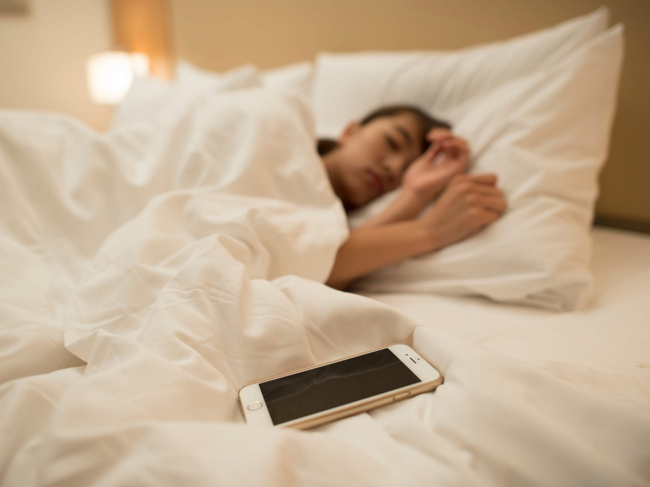
[[[90,57],[86,71],[90,99],[100,105],[117,105],[131,88],[134,77],[149,74],[149,58],[140,53],[99,53]]]

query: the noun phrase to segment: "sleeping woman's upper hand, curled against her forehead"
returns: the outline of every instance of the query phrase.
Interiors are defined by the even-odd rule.
[[[402,190],[422,202],[434,199],[454,176],[467,170],[469,162],[467,142],[447,129],[433,129],[426,138],[431,145],[409,166],[402,179]],[[444,154],[435,160],[441,153]]]

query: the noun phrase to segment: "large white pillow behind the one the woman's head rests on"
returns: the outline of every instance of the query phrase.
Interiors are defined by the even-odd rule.
[[[603,32],[608,18],[601,7],[549,29],[460,51],[320,54],[312,94],[317,134],[336,138],[350,120],[390,103],[437,114],[551,66]]]

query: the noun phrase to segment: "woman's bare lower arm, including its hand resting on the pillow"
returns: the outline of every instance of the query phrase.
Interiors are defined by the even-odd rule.
[[[422,218],[354,229],[326,284],[344,290],[357,277],[473,235],[506,208],[496,182],[493,174],[459,175]]]

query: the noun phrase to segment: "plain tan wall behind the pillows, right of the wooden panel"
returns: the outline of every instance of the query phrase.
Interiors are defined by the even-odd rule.
[[[457,49],[548,27],[601,0],[170,0],[179,58],[263,68],[320,50]],[[650,1],[608,4],[626,58],[599,215],[650,222]]]

